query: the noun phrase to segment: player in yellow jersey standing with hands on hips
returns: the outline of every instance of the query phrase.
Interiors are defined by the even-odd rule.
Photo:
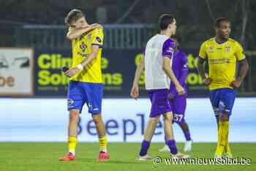
[[[243,47],[230,38],[230,21],[227,18],[218,18],[215,31],[216,36],[203,42],[200,47],[198,72],[203,78],[203,83],[210,89],[210,101],[217,118],[218,142],[214,157],[232,158],[228,142],[229,118],[236,98],[236,88],[239,88],[244,80],[249,66]],[[208,77],[203,69],[206,58]]]

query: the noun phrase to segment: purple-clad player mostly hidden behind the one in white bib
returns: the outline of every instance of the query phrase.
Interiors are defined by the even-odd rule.
[[[186,138],[186,142],[184,145],[184,151],[191,151],[192,148],[192,139],[190,137],[189,126],[185,121],[185,110],[187,106],[187,86],[186,86],[186,79],[187,79],[187,72],[189,71],[187,55],[180,50],[180,40],[178,37],[173,37],[173,41],[175,43],[175,50],[173,56],[173,72],[178,82],[185,90],[184,95],[178,95],[176,91],[175,85],[170,83],[170,106],[173,109],[173,121],[181,127],[182,132]],[[170,151],[168,145],[166,144],[165,138],[165,146],[159,149],[161,152]]]

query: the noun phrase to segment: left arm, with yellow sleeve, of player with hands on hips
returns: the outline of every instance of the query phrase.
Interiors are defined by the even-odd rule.
[[[211,77],[206,77],[206,71],[203,67],[204,62],[206,61],[207,58],[207,54],[206,54],[206,46],[203,43],[203,45],[200,47],[200,51],[199,51],[199,56],[198,56],[198,61],[197,61],[197,71],[200,75],[200,77],[202,77],[203,83],[206,84],[206,86],[209,86],[211,84]]]

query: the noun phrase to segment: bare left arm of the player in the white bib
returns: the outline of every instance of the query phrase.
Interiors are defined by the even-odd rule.
[[[144,56],[140,58],[140,64],[137,66],[137,69],[135,71],[135,78],[132,83],[132,89],[130,96],[132,96],[133,99],[137,99],[139,96],[139,86],[138,83],[140,81],[140,75],[144,70]]]

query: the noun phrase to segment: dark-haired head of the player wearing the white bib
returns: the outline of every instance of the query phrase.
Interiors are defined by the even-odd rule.
[[[172,15],[161,15],[158,24],[161,31],[167,30],[172,35],[176,33],[176,20]]]

